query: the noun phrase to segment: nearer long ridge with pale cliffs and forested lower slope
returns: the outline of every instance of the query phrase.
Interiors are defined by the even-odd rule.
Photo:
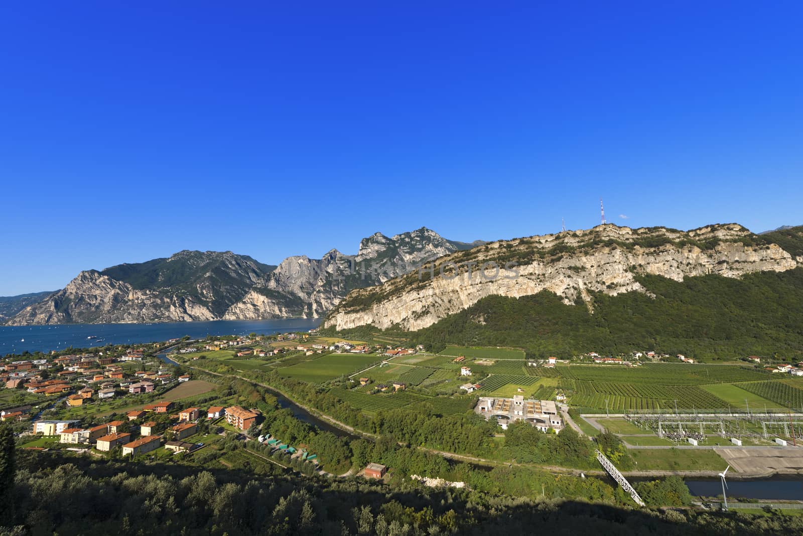
[[[518,277],[478,277],[491,261],[518,262]],[[381,329],[433,351],[502,346],[538,358],[641,349],[803,359],[803,226],[756,235],[736,224],[601,225],[491,242],[436,264],[445,276],[424,270],[353,290],[322,332],[363,339]]]

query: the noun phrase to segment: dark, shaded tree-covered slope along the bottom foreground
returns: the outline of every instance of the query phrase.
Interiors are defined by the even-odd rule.
[[[2,432],[0,432],[2,435]],[[2,440],[0,440],[2,441]],[[10,441],[6,441],[9,445]],[[0,451],[0,536],[51,534],[800,534],[803,518],[629,509],[361,478]],[[683,493],[677,481],[654,494]],[[662,500],[662,499],[658,499]]]

